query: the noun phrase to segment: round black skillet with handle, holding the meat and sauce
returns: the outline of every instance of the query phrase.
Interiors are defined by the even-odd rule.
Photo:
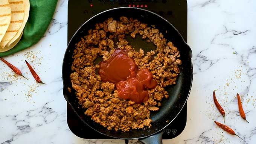
[[[177,84],[165,88],[169,93],[169,98],[164,98],[162,100],[162,106],[159,111],[151,112],[151,119],[153,120],[151,123],[152,126],[146,129],[131,130],[130,132],[116,132],[115,130],[107,130],[107,128],[95,123],[90,117],[84,114],[84,109],[81,109],[81,107],[78,105],[75,91],[72,90],[70,93],[67,90],[68,87],[72,88],[69,76],[72,73],[72,55],[73,51],[75,50],[75,44],[78,43],[83,36],[88,35],[88,30],[93,29],[96,23],[102,23],[109,17],[119,20],[121,16],[128,18],[132,17],[141,21],[142,23],[148,24],[148,26],[155,25],[155,27],[163,33],[167,41],[173,42],[173,44],[178,48],[180,51],[180,59],[182,61],[182,65],[180,66],[180,75],[176,80]],[[75,21],[73,21],[73,23],[75,23]],[[139,36],[137,37],[139,38]],[[150,46],[142,39],[134,41],[133,43],[135,47],[139,46],[144,51],[155,48],[154,45]],[[163,129],[175,119],[187,101],[192,85],[192,74],[192,51],[180,33],[177,31],[177,29],[175,29],[174,26],[172,26],[171,23],[161,16],[145,9],[128,7],[114,8],[101,12],[90,18],[76,31],[71,38],[64,55],[62,65],[62,79],[64,85],[63,94],[67,102],[72,106],[76,114],[78,114],[79,118],[81,118],[85,124],[99,133],[117,139],[139,139],[145,144],[162,144]]]

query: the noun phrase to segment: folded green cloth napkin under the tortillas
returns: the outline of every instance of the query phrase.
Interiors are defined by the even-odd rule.
[[[46,32],[55,12],[58,0],[30,0],[29,19],[18,44],[0,57],[8,56],[36,44]]]

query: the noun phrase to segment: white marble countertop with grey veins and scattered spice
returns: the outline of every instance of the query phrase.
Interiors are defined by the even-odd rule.
[[[194,80],[187,103],[187,124],[164,144],[256,143],[256,1],[188,0],[188,44]],[[67,126],[61,67],[67,39],[67,0],[59,0],[45,37],[5,59],[29,80],[0,62],[0,144],[122,144],[123,140],[81,139]],[[28,60],[47,85],[35,82]],[[223,122],[212,92],[226,111],[226,123],[244,141],[217,127]],[[241,95],[246,123],[239,115]],[[137,140],[130,143],[140,143]]]

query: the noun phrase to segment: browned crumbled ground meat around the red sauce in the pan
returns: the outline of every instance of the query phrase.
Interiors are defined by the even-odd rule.
[[[136,51],[125,39],[128,34],[132,38],[141,35],[147,42],[153,42],[156,50],[147,53],[142,49]],[[118,39],[116,44],[114,38]],[[144,103],[120,99],[115,85],[102,82],[96,72],[99,69],[99,64],[95,64],[96,58],[102,57],[106,61],[117,48],[126,50],[139,69],[148,68],[157,80],[157,86],[148,90],[149,99]],[[172,42],[167,43],[154,26],[149,27],[133,18],[120,17],[120,21],[108,18],[96,24],[95,29],[89,30],[88,35],[76,44],[70,79],[79,104],[93,121],[108,130],[142,129],[151,126],[150,111],[158,111],[163,97],[169,97],[165,87],[175,84],[180,73],[179,57],[177,47]]]

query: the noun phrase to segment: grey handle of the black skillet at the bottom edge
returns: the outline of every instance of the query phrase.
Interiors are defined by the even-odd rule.
[[[163,144],[162,142],[163,130],[155,135],[147,138],[139,139],[143,144]]]

